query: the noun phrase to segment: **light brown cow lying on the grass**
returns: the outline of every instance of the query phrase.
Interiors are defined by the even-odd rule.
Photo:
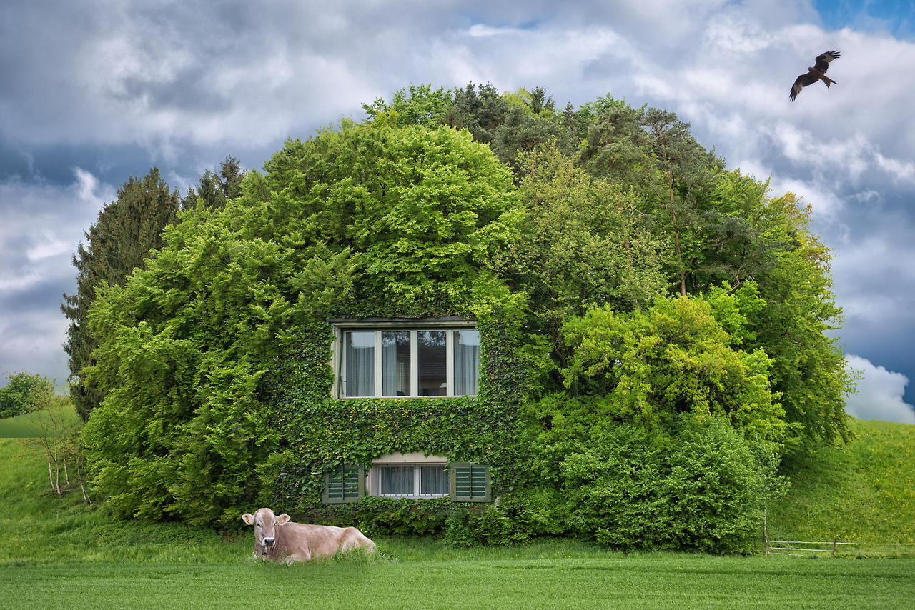
[[[356,528],[309,525],[289,520],[289,515],[274,515],[270,508],[244,513],[242,521],[254,526],[254,557],[274,562],[310,562],[329,559],[338,552],[364,548],[375,550],[375,543]]]

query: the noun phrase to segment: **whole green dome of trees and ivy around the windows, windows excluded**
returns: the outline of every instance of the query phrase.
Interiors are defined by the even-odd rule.
[[[115,514],[747,551],[778,457],[849,437],[809,210],[675,115],[490,85],[364,108],[206,177],[98,289],[83,439]],[[331,398],[328,319],[367,316],[476,320],[479,394]],[[414,451],[490,466],[498,501],[320,505],[330,468]]]

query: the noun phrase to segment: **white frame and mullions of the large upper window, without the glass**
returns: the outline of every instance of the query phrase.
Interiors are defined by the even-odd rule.
[[[371,323],[346,323],[331,322],[334,328],[334,350],[333,350],[333,369],[334,369],[334,387],[332,396],[339,399],[362,399],[362,398],[456,398],[455,388],[455,367],[454,367],[454,349],[455,349],[455,332],[462,330],[477,330],[476,323],[472,320],[415,320],[415,321],[387,321]],[[410,393],[406,396],[382,396],[382,332],[386,331],[409,331],[410,332]],[[445,394],[437,396],[421,396],[419,394],[419,342],[417,336],[425,331],[441,331],[446,333],[445,338]],[[375,333],[374,343],[374,396],[347,396],[346,380],[344,371],[346,371],[346,349],[343,345],[343,339],[347,332],[366,332]],[[478,362],[479,364],[479,362]],[[479,384],[477,387],[479,393]],[[461,396],[476,396],[477,394],[459,394]]]

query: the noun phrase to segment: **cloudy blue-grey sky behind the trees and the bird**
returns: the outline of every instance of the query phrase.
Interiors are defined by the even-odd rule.
[[[789,102],[834,48],[837,84]],[[802,196],[865,375],[847,408],[915,423],[913,68],[911,0],[6,0],[0,374],[66,378],[70,257],[128,177],[158,166],[184,192],[409,84],[490,81],[676,112],[729,167]]]

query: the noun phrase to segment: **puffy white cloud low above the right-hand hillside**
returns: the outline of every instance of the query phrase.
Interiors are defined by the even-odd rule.
[[[845,401],[845,412],[859,420],[915,423],[912,405],[902,400],[909,378],[902,373],[884,369],[870,360],[847,355],[851,369],[861,371],[857,393]]]

